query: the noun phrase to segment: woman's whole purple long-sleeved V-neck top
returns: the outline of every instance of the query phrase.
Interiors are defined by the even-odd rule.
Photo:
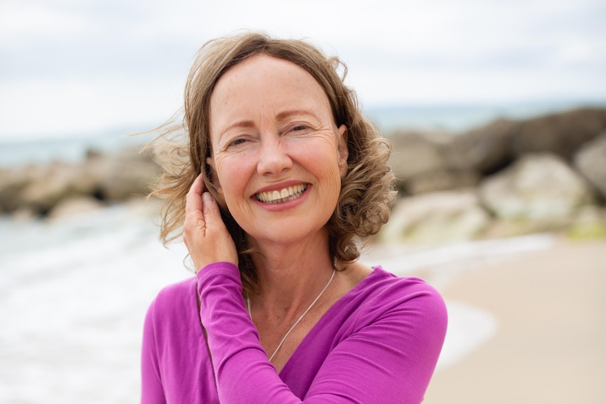
[[[377,267],[277,374],[246,311],[238,268],[213,263],[151,304],[141,403],[420,403],[445,334],[435,289]]]

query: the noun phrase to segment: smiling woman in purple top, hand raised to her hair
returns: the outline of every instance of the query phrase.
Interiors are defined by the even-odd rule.
[[[262,34],[202,47],[186,84],[188,145],[160,150],[155,192],[162,237],[183,226],[196,276],[150,306],[142,403],[423,400],[444,302],[422,280],[356,261],[361,237],[388,219],[394,178],[338,67]]]

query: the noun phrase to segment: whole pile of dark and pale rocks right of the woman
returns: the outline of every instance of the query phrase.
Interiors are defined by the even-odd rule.
[[[403,198],[383,240],[606,235],[606,109],[499,119],[439,138],[392,136]]]

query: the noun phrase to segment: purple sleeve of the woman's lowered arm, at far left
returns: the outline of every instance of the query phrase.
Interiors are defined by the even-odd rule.
[[[217,404],[195,278],[163,288],[143,325],[142,404]]]

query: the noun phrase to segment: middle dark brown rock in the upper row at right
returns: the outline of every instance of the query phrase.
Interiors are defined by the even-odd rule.
[[[446,161],[452,169],[494,174],[512,162],[512,137],[518,122],[495,122],[453,136],[446,146]]]

